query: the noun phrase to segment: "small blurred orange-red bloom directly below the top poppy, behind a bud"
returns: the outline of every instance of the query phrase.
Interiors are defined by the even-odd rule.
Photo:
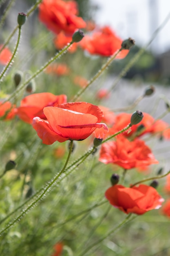
[[[63,31],[61,31],[54,39],[55,47],[60,50],[64,48],[68,43],[72,41],[71,36],[66,36]],[[71,47],[68,49],[68,52],[75,52],[77,50],[77,44],[73,43]]]

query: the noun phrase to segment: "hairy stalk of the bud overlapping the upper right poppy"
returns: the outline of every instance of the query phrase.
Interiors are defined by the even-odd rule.
[[[71,100],[76,101],[83,93],[84,91],[97,79],[99,78],[99,76],[104,72],[104,70],[106,70],[106,68],[113,62],[113,60],[116,58],[117,54],[119,54],[119,52],[121,52],[122,49],[117,50],[117,52],[115,52],[115,54],[113,54],[111,57],[109,57],[106,61],[106,63],[102,66],[102,68],[95,74],[95,76],[93,76],[93,78],[88,81],[87,85],[82,88],[82,90],[79,90],[79,92],[77,92],[77,94],[73,97],[73,99]]]

